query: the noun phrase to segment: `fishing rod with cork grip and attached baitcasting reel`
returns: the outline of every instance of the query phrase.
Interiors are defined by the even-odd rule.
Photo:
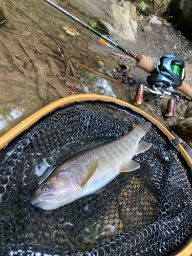
[[[55,8],[57,11],[73,19],[75,22],[81,25],[81,27],[88,29],[97,35],[96,40],[101,42],[106,46],[111,46],[117,50],[122,51],[126,55],[131,56],[136,60],[136,66],[147,73],[150,73],[150,76],[147,76],[147,83],[150,85],[151,89],[143,86],[142,84],[137,88],[136,96],[134,98],[134,105],[141,105],[143,103],[143,93],[144,91],[152,94],[154,97],[166,98],[168,99],[167,109],[165,111],[165,116],[172,117],[174,115],[174,99],[171,94],[174,92],[174,89],[186,94],[189,98],[192,99],[192,88],[190,88],[186,83],[183,82],[185,78],[185,69],[184,61],[177,57],[174,54],[165,54],[160,56],[155,63],[153,60],[147,58],[145,55],[140,55],[139,57],[127,51],[123,47],[116,44],[110,38],[104,36],[98,31],[94,30],[87,24],[81,22],[78,18],[62,9],[58,5],[54,4],[50,0],[42,0],[48,5]],[[103,39],[101,39],[101,38]]]

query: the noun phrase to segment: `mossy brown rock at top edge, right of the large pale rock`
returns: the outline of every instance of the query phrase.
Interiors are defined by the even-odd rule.
[[[140,10],[141,0],[129,0],[129,2],[136,6],[137,10],[144,15],[155,14],[157,16],[162,16],[172,0],[144,0],[146,4],[146,9],[144,11]]]

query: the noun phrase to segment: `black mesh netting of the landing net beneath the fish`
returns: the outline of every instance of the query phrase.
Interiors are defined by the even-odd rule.
[[[141,167],[98,195],[55,210],[30,204],[63,160],[110,141],[145,119],[129,108],[86,101],[58,108],[0,151],[1,255],[170,255],[191,236],[189,168],[155,125]]]

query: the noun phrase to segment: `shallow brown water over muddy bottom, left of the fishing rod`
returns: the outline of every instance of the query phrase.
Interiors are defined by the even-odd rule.
[[[26,4],[5,0],[4,4],[8,22],[0,29],[0,136],[62,97],[97,93],[122,100],[129,98],[126,86],[117,87],[115,82],[79,67],[78,63],[82,63],[104,75],[108,75],[108,69],[118,67],[108,49],[98,45],[87,30],[82,30],[80,36],[67,34],[64,26],[78,30],[79,25],[43,1]],[[83,20],[79,14],[68,11]],[[60,44],[64,60],[58,51]],[[10,113],[14,110],[17,114],[13,117]]]

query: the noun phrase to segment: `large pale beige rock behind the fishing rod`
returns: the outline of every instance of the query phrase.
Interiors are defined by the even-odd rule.
[[[125,41],[134,42],[137,39],[136,7],[123,0],[114,3],[106,10],[104,17],[98,20],[97,25]]]

